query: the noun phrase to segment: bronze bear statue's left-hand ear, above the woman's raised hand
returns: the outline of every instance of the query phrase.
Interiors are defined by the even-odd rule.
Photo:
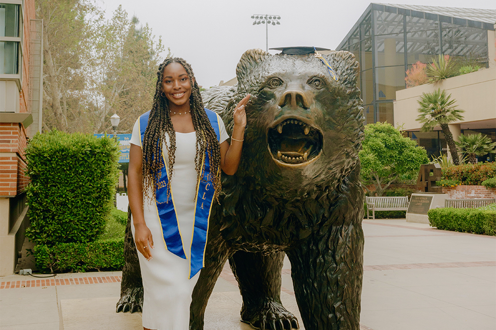
[[[240,92],[247,93],[249,86],[256,86],[259,74],[255,74],[255,70],[270,56],[272,56],[270,53],[259,48],[245,51],[236,67]]]

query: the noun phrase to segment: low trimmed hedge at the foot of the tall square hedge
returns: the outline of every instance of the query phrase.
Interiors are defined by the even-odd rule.
[[[52,273],[118,271],[124,267],[124,237],[91,243],[61,243],[34,247],[36,267]]]

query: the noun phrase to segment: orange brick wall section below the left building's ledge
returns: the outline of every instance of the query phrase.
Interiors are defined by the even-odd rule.
[[[26,130],[20,123],[0,123],[0,196],[15,196],[29,183],[25,175]]]

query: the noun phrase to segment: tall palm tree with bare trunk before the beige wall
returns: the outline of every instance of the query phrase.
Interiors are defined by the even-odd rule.
[[[434,127],[440,126],[444,139],[451,152],[453,164],[458,165],[458,153],[456,152],[455,141],[449,130],[448,124],[462,120],[461,115],[464,110],[456,109],[455,99],[451,99],[451,94],[446,95],[446,91],[437,89],[433,93],[422,93],[419,102],[419,116],[417,121],[422,124],[421,131],[432,131]]]

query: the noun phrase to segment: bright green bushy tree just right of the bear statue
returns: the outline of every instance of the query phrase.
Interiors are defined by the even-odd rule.
[[[429,162],[426,149],[388,123],[366,125],[362,144],[363,149],[358,153],[362,164],[360,175],[370,195],[382,196],[395,180],[409,175],[416,177],[420,165]],[[371,184],[375,192],[367,188]]]

